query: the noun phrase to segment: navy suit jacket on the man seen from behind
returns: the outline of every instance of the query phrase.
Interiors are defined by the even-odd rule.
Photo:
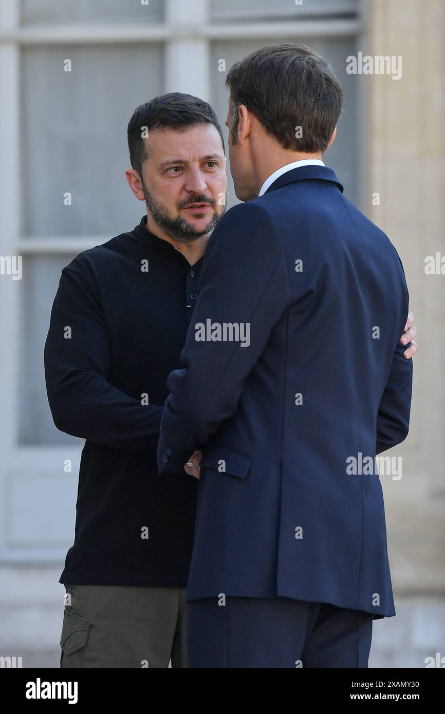
[[[408,433],[407,313],[394,246],[326,166],[221,219],[158,446],[159,473],[203,451],[189,601],[395,615],[374,459]]]

